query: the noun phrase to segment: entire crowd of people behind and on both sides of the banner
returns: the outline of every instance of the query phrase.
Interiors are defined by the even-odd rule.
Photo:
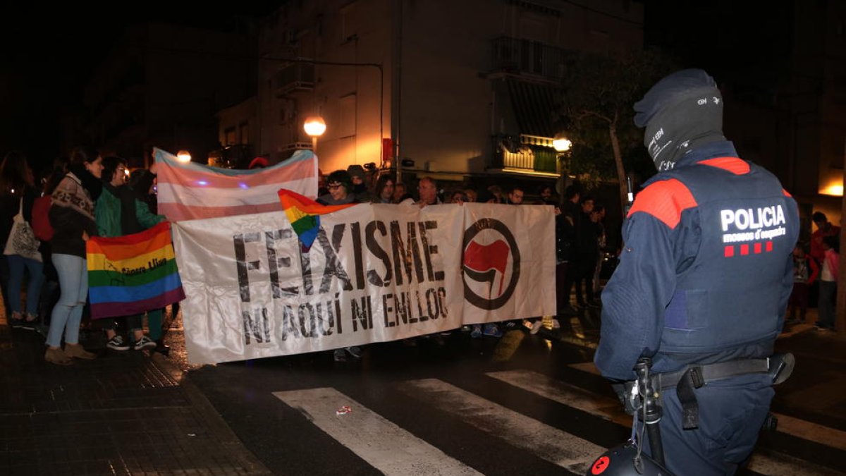
[[[256,165],[264,166],[266,163]],[[416,194],[412,195],[410,190]],[[550,205],[555,211],[558,302],[557,316],[548,322],[558,328],[558,318],[569,319],[601,306],[598,292],[606,244],[605,209],[576,185],[569,186],[561,198],[552,185],[541,185],[533,191],[522,185],[504,191],[498,185],[478,188],[457,185],[442,190],[431,177],[420,178],[416,187],[410,189],[391,174],[376,178],[372,172],[353,165],[325,177],[321,175],[317,202],[327,205],[370,202],[420,208],[467,202]],[[0,210],[0,244],[3,244],[0,288],[9,324],[45,335],[45,360],[49,363],[69,365],[74,358],[95,358],[95,354],[80,345],[80,325],[88,294],[85,241],[91,236],[137,233],[165,219],[156,214],[155,169],[137,169],[130,176],[124,159],[102,158],[92,149],[79,147],[69,158],[57,159],[36,181],[29,159],[23,153],[9,152],[0,164]],[[809,289],[816,281],[819,283],[816,327],[829,330],[834,326],[840,229],[829,223],[823,213],[814,213],[813,221],[817,230],[811,237],[810,250],[799,244],[794,252],[795,285],[788,324],[805,320]],[[162,344],[162,316],[162,310],[146,313],[149,335],[143,332],[143,315],[106,318],[92,327],[105,332],[107,347],[114,351],[166,352],[167,346]],[[463,330],[470,332],[472,338],[501,337],[501,325],[506,329],[525,326],[534,334],[542,322],[537,317],[474,325]],[[442,335],[425,338],[442,342]],[[414,346],[415,339],[404,343]],[[346,360],[348,355],[358,358],[361,350],[351,346],[334,351],[336,361]]]

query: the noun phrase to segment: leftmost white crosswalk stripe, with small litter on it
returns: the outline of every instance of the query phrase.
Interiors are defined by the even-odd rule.
[[[273,395],[387,475],[480,474],[338,390],[292,390]],[[352,411],[336,414],[344,406]]]

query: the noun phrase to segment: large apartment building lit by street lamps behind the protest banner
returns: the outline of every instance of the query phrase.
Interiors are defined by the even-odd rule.
[[[252,139],[257,155],[285,158],[311,146],[302,125],[320,115],[326,172],[551,178],[566,59],[642,42],[642,4],[624,0],[290,2],[260,22]]]

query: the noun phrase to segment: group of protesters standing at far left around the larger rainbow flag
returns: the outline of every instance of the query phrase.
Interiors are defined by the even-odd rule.
[[[130,187],[124,159],[102,158],[87,147],[57,159],[37,182],[23,153],[9,152],[0,163],[3,311],[12,328],[44,335],[48,363],[67,366],[74,358],[96,358],[80,344],[88,298],[85,241],[137,233],[164,219],[154,214],[155,174],[137,172],[136,186]],[[116,351],[167,351],[162,311],[148,314],[150,336],[138,315],[86,325],[105,331],[107,347]],[[125,324],[128,340],[118,335],[116,320]]]

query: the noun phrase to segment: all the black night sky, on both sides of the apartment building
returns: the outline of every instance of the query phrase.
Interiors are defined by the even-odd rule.
[[[427,0],[434,1],[434,0]],[[268,14],[280,1],[246,2],[238,14]],[[590,0],[578,3],[589,4]],[[219,30],[231,12],[178,3],[107,3],[96,8],[47,8],[19,2],[4,7],[0,59],[0,153],[20,149],[35,162],[58,153],[63,108],[79,107],[91,71],[128,26],[148,21]],[[717,80],[770,91],[787,56],[791,2],[645,3],[645,43],[676,55],[684,66],[707,69]]]

